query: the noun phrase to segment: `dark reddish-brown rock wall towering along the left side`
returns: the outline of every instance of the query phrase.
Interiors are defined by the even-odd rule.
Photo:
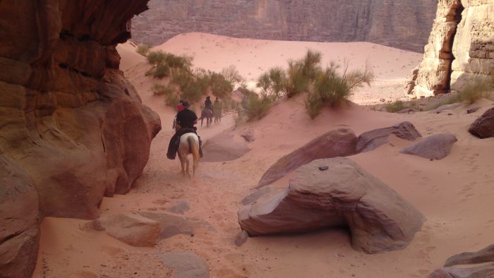
[[[129,191],[159,117],[116,44],[147,0],[0,0],[0,277],[30,277],[43,217],[98,217]]]

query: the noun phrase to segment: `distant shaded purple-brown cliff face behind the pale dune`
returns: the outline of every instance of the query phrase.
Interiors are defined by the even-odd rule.
[[[375,42],[423,52],[438,0],[151,0],[133,40],[183,32],[317,42]]]

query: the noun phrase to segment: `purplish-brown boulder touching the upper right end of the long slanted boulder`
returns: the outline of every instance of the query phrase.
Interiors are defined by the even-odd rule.
[[[387,143],[387,138],[393,134],[404,140],[415,140],[422,135],[417,131],[415,126],[409,121],[397,123],[387,128],[378,128],[373,131],[367,131],[359,135],[356,145],[356,152],[370,152],[380,145]]]

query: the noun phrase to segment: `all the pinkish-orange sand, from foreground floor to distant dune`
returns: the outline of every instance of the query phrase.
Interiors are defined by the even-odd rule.
[[[298,58],[308,48],[323,52],[325,61],[351,58],[351,66],[356,68],[369,60],[379,82],[394,85],[404,80],[421,56],[370,43],[270,42],[203,34],[180,35],[156,47],[193,54],[195,66],[216,71],[234,64],[251,81],[261,71],[284,66],[287,59]],[[128,44],[119,46],[119,52],[126,77],[143,103],[157,111],[163,130],[152,143],[150,160],[135,188],[127,195],[104,198],[102,214],[166,212],[185,200],[191,209],[184,215],[202,219],[214,229],[199,227],[193,236],[179,234],[159,241],[154,248],[136,248],[104,231],[85,229],[85,220],[48,217],[42,224],[34,277],[174,277],[176,273],[158,259],[160,253],[172,250],[191,250],[204,258],[210,277],[427,277],[450,255],[493,243],[494,138],[480,140],[467,131],[493,102],[482,99],[477,104],[481,109],[473,114],[466,114],[466,107],[449,114],[389,114],[351,106],[325,109],[311,120],[303,98],[282,99],[260,121],[233,128],[228,116],[220,124],[199,128],[204,140],[219,133],[241,140],[241,133],[253,130],[255,141],[249,144],[251,151],[239,159],[200,163],[195,180],[188,180],[180,175],[178,160],[165,156],[174,110],[150,92],[154,81],[143,75],[148,67],[143,56]],[[401,97],[401,85],[398,89],[388,90],[390,97]],[[364,88],[354,97],[354,101],[366,103],[383,96],[380,90]],[[349,157],[426,216],[422,230],[407,248],[375,255],[359,253],[351,248],[346,229],[255,237],[243,246],[234,244],[240,233],[236,215],[240,201],[253,192],[277,159],[339,127],[351,128],[358,135],[401,121],[414,123],[424,137],[449,132],[458,138],[451,154],[438,161],[400,154],[398,150],[411,142],[393,135],[390,144]]]

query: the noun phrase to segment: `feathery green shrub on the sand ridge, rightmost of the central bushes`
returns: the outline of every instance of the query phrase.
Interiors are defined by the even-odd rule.
[[[352,90],[373,80],[373,73],[367,65],[363,71],[350,72],[347,71],[347,65],[342,75],[337,72],[337,68],[339,66],[331,63],[315,78],[313,90],[306,99],[306,110],[312,119],[320,114],[323,107],[342,106],[347,102]]]

